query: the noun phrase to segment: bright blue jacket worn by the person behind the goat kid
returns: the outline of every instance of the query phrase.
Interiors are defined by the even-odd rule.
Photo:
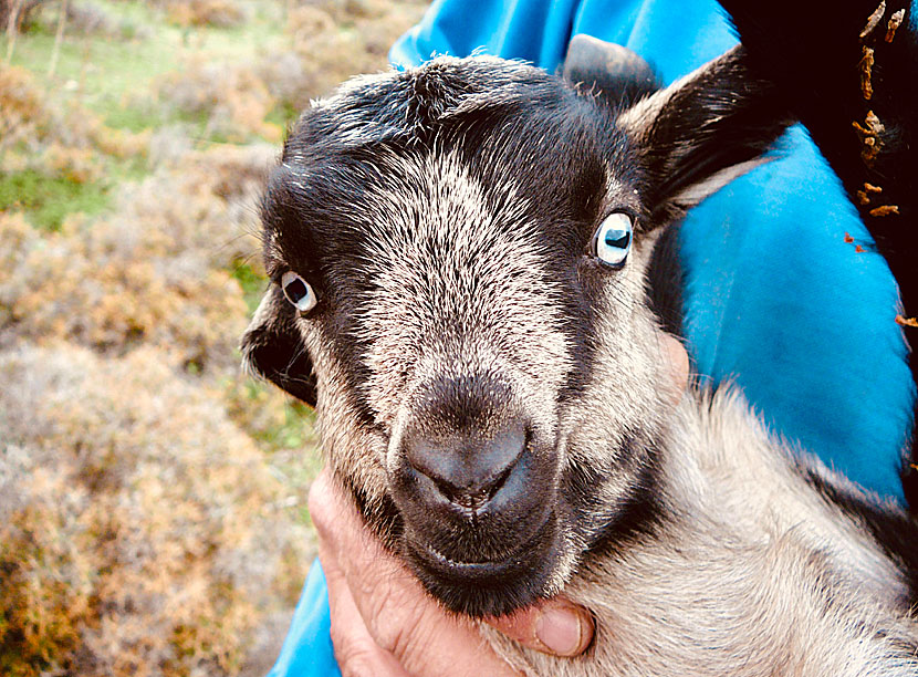
[[[671,82],[736,39],[713,0],[438,0],[389,58],[399,66],[473,51],[553,71],[588,33],[624,44]],[[776,159],[695,208],[681,230],[685,331],[698,371],[733,378],[772,428],[882,494],[898,478],[912,383],[884,309],[897,290],[841,184],[801,127]],[[271,673],[340,675],[317,562]]]

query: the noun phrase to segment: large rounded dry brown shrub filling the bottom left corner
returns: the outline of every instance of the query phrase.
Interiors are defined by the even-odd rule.
[[[309,553],[219,394],[154,348],[20,347],[0,381],[0,671],[237,674]]]

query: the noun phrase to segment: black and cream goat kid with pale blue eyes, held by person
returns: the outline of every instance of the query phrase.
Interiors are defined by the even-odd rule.
[[[916,675],[916,523],[665,374],[661,233],[792,117],[743,48],[633,94],[484,56],[343,85],[270,178],[246,362],[447,608],[595,614],[576,659],[482,625],[529,675]]]

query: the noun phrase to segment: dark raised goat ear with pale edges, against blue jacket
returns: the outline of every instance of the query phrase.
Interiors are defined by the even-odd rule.
[[[737,46],[641,98],[618,117],[644,166],[644,201],[666,223],[765,162],[793,122],[774,86],[754,76]]]

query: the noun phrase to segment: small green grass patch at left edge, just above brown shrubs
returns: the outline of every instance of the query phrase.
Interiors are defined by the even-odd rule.
[[[34,169],[0,174],[0,211],[24,210],[36,228],[58,230],[69,213],[95,215],[109,204],[109,187],[50,177]]]

